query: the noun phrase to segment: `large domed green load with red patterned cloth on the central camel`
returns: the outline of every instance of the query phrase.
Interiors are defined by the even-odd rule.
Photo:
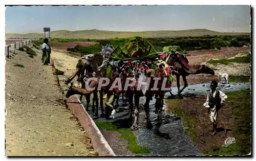
[[[109,59],[106,64],[106,77],[119,77],[123,85],[126,79],[122,78],[138,79],[141,74],[150,77],[153,74],[148,71],[150,69],[154,70],[154,76],[167,77],[169,86],[173,81],[169,66],[159,59],[154,47],[144,38],[133,37],[120,43],[110,54]]]

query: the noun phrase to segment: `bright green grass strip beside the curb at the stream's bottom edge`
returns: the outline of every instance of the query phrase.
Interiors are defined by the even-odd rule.
[[[133,131],[125,128],[117,128],[110,122],[95,122],[99,129],[106,129],[110,131],[117,131],[121,134],[121,139],[128,141],[127,149],[135,154],[150,153],[150,149],[143,148],[137,143],[137,138],[133,134]]]

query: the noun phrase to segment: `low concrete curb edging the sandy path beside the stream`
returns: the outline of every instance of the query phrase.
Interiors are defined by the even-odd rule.
[[[53,59],[52,65],[54,68],[56,68]],[[59,82],[59,76],[57,75],[57,77]],[[90,136],[94,150],[97,151],[100,156],[116,156],[116,154],[110,147],[109,143],[105,140],[99,128],[96,126],[95,122],[90,117],[89,113],[83,107],[78,97],[71,96],[67,99],[66,104],[68,108],[74,112],[81,126],[86,130],[87,134]]]

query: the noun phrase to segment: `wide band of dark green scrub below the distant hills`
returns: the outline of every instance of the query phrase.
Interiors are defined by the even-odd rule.
[[[191,33],[190,33],[191,34]],[[203,50],[203,49],[221,49],[221,47],[243,47],[243,45],[250,44],[250,35],[240,35],[240,36],[198,36],[198,37],[149,37],[143,35],[134,35],[146,37],[147,40],[153,45],[153,47],[158,52],[163,52],[163,47],[168,45],[178,45],[182,50],[191,51],[191,50]],[[68,51],[79,52],[79,53],[96,53],[101,50],[101,44],[112,44],[115,48],[118,44],[128,39],[128,37],[133,37],[133,35],[122,37],[116,36],[115,38],[108,39],[90,39],[90,38],[51,38],[51,41],[58,42],[73,42],[73,41],[91,41],[98,42],[99,44],[95,44],[90,47],[82,47],[77,46],[75,48],[67,49]],[[35,44],[40,42],[34,42]],[[100,48],[99,48],[100,47]]]

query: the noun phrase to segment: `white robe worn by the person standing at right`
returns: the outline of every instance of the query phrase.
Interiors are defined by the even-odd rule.
[[[210,90],[210,93],[211,93],[211,90]],[[222,91],[219,90],[219,94],[220,94],[220,99],[221,99],[221,103],[224,103],[225,102],[225,99],[227,98],[227,95],[225,95]],[[216,95],[216,90],[213,94],[214,98],[215,98],[215,95]],[[207,95],[207,99],[206,99],[206,102],[204,103],[204,106],[206,108],[209,108],[209,94]],[[216,122],[217,121],[217,110],[216,110],[216,105],[212,108],[210,108],[210,120],[211,122]]]

